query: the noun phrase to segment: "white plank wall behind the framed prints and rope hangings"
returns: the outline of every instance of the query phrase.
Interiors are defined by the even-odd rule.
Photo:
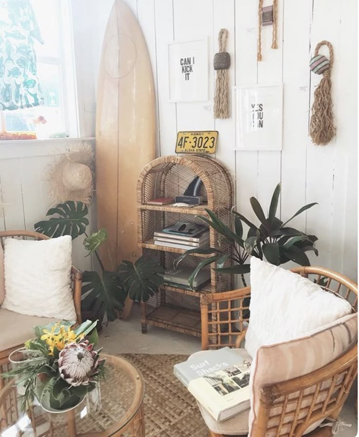
[[[94,65],[113,1],[94,4]],[[127,0],[147,41],[157,89],[158,150],[173,154],[178,130],[219,131],[217,158],[236,181],[237,209],[253,217],[249,197],[269,207],[281,181],[280,210],[289,218],[299,207],[319,202],[293,225],[319,237],[319,258],[312,263],[357,278],[357,47],[356,0],[279,0],[279,49],[272,50],[271,26],[262,29],[263,61],[257,62],[256,0]],[[265,4],[271,4],[265,1]],[[284,83],[283,150],[237,151],[235,120],[212,116],[215,75],[211,67],[219,29],[229,31],[228,48],[234,85]],[[169,103],[168,43],[208,38],[210,102]],[[325,147],[308,137],[313,92],[320,77],[308,62],[316,44],[334,46],[332,72],[338,134]],[[96,78],[95,78],[96,80]]]

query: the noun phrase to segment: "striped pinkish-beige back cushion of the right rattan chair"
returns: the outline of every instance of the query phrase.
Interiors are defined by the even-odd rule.
[[[302,338],[270,346],[261,346],[254,357],[251,366],[249,385],[251,389],[251,410],[249,414],[249,437],[255,437],[255,426],[259,412],[259,393],[264,384],[287,381],[298,376],[314,372],[329,364],[353,347],[358,340],[358,315],[350,314],[332,322]],[[326,387],[329,387],[328,381]],[[322,386],[324,388],[324,385]],[[309,389],[306,394],[313,393]],[[295,394],[291,395],[292,397]],[[320,400],[320,399],[319,399]],[[322,400],[322,399],[321,399]],[[295,406],[287,407],[288,412]],[[275,409],[271,414],[281,413]],[[304,416],[304,414],[303,414]],[[303,417],[301,416],[301,418]],[[300,416],[299,416],[300,417]],[[292,416],[287,416],[285,422]],[[304,434],[315,429],[322,420],[312,424]],[[270,421],[273,426],[278,419]],[[281,434],[288,432],[289,426],[283,427]],[[266,437],[275,436],[267,433]]]

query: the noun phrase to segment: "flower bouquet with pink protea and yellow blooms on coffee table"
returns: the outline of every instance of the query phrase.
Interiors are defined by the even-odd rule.
[[[22,388],[23,411],[35,399],[47,411],[69,410],[96,388],[105,375],[105,360],[100,359],[100,350],[94,351],[96,324],[87,320],[75,329],[71,328],[73,322],[37,326],[36,337],[19,350],[16,364],[10,356],[13,369],[4,376],[15,377]]]

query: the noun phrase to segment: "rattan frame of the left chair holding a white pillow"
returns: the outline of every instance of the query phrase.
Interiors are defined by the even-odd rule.
[[[4,245],[5,238],[20,238],[22,240],[48,240],[50,237],[30,230],[7,230],[0,231],[0,243]],[[72,266],[71,268],[71,289],[74,296],[74,304],[76,311],[76,322],[81,323],[81,286],[82,286],[82,271]],[[3,366],[7,366],[9,355],[21,347],[19,344],[13,348],[0,351],[0,389],[3,387],[3,379],[1,378],[1,370]]]

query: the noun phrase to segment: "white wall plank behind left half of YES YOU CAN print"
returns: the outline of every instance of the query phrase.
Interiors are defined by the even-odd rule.
[[[257,11],[253,0],[235,2],[236,20],[236,85],[257,83]],[[236,152],[237,210],[256,220],[249,204],[258,193],[258,152]]]

